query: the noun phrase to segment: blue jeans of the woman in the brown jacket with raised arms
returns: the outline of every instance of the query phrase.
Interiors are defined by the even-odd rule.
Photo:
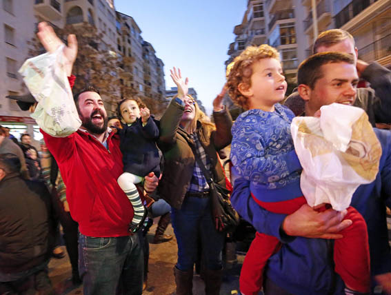
[[[186,197],[180,210],[172,207],[171,218],[178,243],[177,268],[183,272],[193,268],[201,238],[205,267],[212,270],[221,269],[225,234],[214,228],[209,199]]]

